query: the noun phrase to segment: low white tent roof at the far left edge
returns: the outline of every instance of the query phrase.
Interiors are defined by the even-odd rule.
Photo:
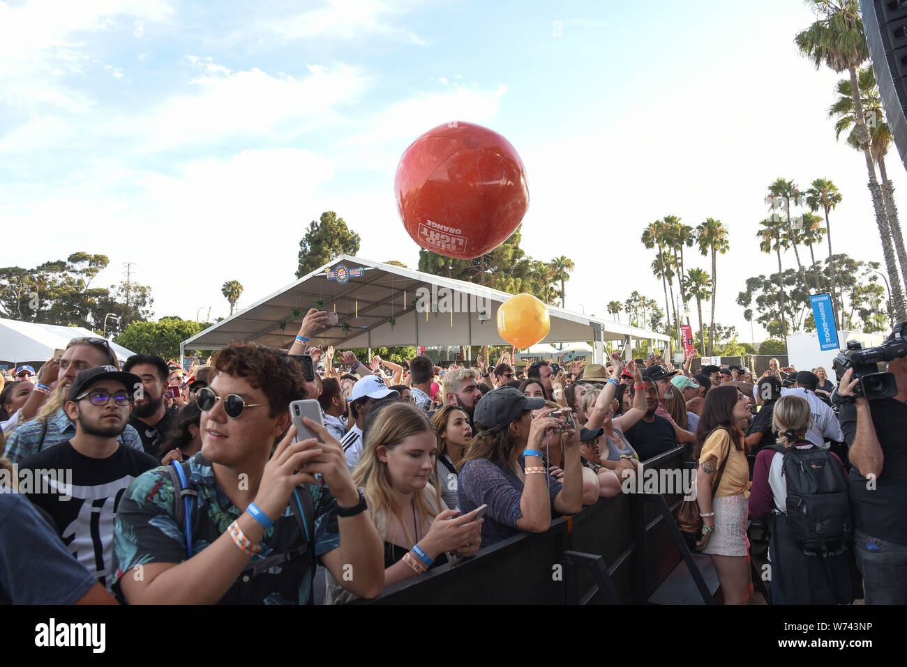
[[[73,338],[99,338],[97,333],[81,326],[34,324],[0,318],[0,361],[11,365],[42,364],[54,356],[54,350],[65,348]],[[122,345],[110,343],[120,362],[132,356]]]

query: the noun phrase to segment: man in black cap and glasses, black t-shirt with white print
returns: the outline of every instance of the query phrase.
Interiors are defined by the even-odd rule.
[[[117,440],[138,383],[137,375],[113,366],[80,372],[63,405],[75,422],[75,435],[25,459],[19,469],[20,479],[29,471],[32,488],[40,491],[28,498],[50,515],[73,556],[108,590],[120,497],[133,479],[158,465],[154,457]]]

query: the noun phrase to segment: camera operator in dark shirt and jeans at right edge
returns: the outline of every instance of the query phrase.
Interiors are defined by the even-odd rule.
[[[850,446],[856,557],[866,604],[907,604],[907,357],[888,362],[897,394],[869,401],[847,369],[837,389],[841,427]]]

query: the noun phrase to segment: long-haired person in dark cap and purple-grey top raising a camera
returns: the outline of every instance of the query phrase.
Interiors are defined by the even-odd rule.
[[[486,393],[475,407],[479,431],[461,463],[457,504],[463,513],[488,505],[482,546],[521,531],[543,533],[551,527],[553,512],[576,514],[582,509],[580,433],[549,434],[562,422],[552,419],[544,406],[544,399],[502,387]],[[535,419],[533,410],[541,410]],[[563,477],[558,481],[544,467],[543,449],[561,443]]]

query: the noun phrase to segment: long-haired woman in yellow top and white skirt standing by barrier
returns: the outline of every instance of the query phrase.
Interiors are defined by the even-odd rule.
[[[703,531],[697,546],[715,564],[725,604],[749,604],[753,588],[746,538],[749,464],[744,433],[737,426],[748,415],[746,396],[736,387],[715,387],[706,394],[696,430],[696,488]]]

